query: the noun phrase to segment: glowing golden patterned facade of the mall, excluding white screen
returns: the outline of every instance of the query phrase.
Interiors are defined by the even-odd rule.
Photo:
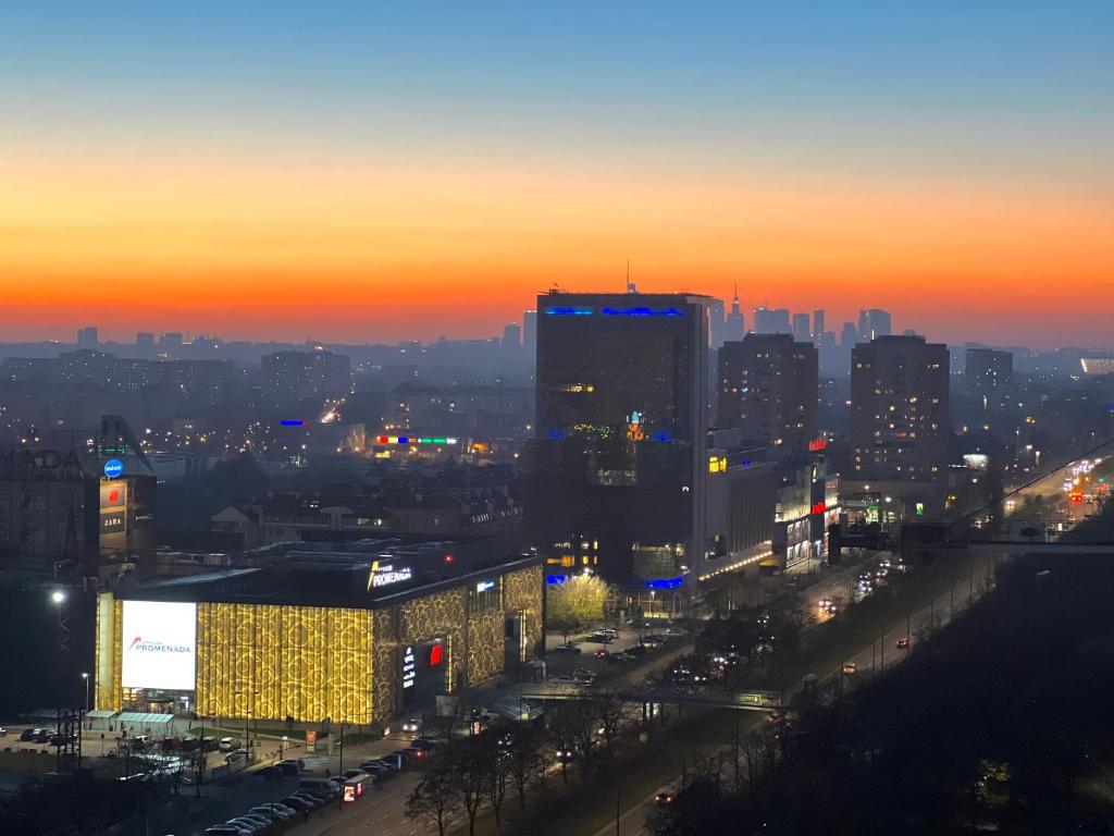
[[[469,613],[470,585],[378,609],[198,603],[195,710],[205,717],[373,723],[402,710],[407,647],[440,640],[443,690],[524,662],[541,642],[539,565],[498,577],[501,606]],[[508,649],[506,619],[520,623]],[[97,708],[121,709],[123,602],[97,606]],[[509,651],[509,652],[508,652]]]

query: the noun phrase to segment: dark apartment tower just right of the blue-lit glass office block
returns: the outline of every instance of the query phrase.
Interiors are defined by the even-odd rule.
[[[745,441],[808,453],[817,437],[819,358],[810,341],[749,333],[720,350],[716,426],[737,427]]]

